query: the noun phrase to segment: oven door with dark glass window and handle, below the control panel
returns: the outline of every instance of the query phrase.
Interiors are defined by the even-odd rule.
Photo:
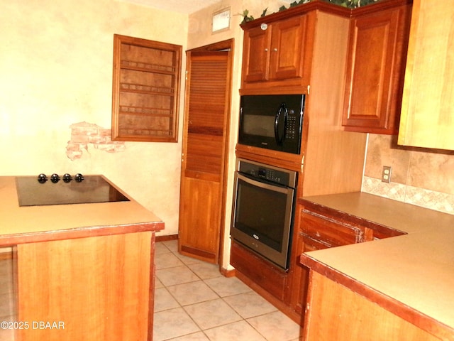
[[[273,185],[236,173],[231,237],[288,269],[294,188]]]

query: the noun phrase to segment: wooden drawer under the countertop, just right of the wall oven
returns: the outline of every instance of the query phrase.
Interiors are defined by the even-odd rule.
[[[307,210],[302,210],[300,224],[304,234],[330,247],[355,244],[361,240],[362,232],[358,227]]]

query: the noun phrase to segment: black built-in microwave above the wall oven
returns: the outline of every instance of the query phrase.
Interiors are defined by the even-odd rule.
[[[238,143],[299,154],[304,100],[304,94],[241,96]]]

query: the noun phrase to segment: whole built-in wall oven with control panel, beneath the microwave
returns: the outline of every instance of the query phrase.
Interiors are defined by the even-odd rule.
[[[231,238],[288,269],[297,172],[238,159]]]

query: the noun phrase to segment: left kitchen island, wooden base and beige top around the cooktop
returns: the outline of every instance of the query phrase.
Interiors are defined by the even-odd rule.
[[[160,218],[126,193],[121,202],[21,207],[16,178],[0,177],[0,194],[16,340],[152,340]]]

